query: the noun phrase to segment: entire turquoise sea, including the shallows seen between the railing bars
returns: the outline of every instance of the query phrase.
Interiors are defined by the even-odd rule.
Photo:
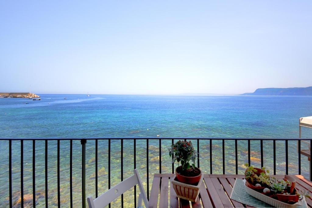
[[[64,99],[66,97],[67,99]],[[29,104],[25,104],[29,102]],[[298,120],[312,115],[310,96],[144,96],[144,95],[41,95],[40,101],[0,99],[1,138],[159,138],[235,137],[298,138]],[[149,129],[149,130],[147,130]],[[303,128],[302,136],[312,131]],[[111,140],[111,186],[120,181],[120,140]],[[162,172],[171,172],[162,140]],[[196,144],[196,140],[194,140]],[[98,191],[108,189],[108,141],[98,140]],[[159,141],[149,140],[149,188],[159,173]],[[304,144],[302,144],[305,148]],[[209,173],[209,142],[200,141],[200,166]],[[8,141],[0,141],[0,205],[8,206]],[[146,140],[136,141],[137,169],[146,188]],[[289,141],[289,174],[298,172],[296,142]],[[260,141],[251,141],[251,163],[260,166]],[[133,171],[133,139],[124,140],[124,178]],[[264,165],[273,170],[273,142],[264,141]],[[285,141],[276,142],[277,174],[285,173]],[[238,141],[239,172],[248,160],[247,141]],[[36,141],[36,203],[45,206],[44,141]],[[95,195],[95,140],[86,144],[86,192]],[[234,141],[225,141],[226,173],[235,173]],[[57,206],[56,141],[48,142],[48,204]],[[222,173],[222,141],[212,143],[212,171]],[[307,158],[301,173],[308,177]],[[24,195],[32,194],[32,141],[24,141]],[[81,145],[73,142],[73,201],[81,206]],[[69,205],[69,141],[61,141],[61,204]],[[20,141],[12,142],[13,204],[20,199]],[[146,190],[147,191],[147,190]],[[139,193],[139,191],[137,191]],[[120,205],[120,197],[113,203]],[[124,195],[133,204],[133,190]],[[32,206],[31,200],[25,202]]]

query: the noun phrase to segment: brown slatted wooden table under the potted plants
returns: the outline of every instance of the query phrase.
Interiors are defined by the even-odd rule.
[[[309,190],[312,192],[311,181],[306,180],[301,175],[292,175],[295,177],[299,190]],[[204,181],[200,188],[199,199],[196,203],[187,200],[179,199],[176,196],[170,180],[174,174],[155,174],[152,184],[152,189],[149,195],[149,207],[166,207],[168,203],[172,208],[178,207],[251,207],[240,202],[230,199],[232,187],[236,178],[243,178],[244,175],[204,175]],[[284,178],[284,176],[275,176],[276,178]],[[170,187],[169,187],[170,186]],[[159,193],[160,190],[160,193]],[[169,199],[168,199],[169,195]],[[312,194],[310,193],[312,197]],[[158,203],[159,197],[159,203]],[[169,201],[169,202],[168,202]],[[312,200],[307,199],[309,207],[312,207]]]

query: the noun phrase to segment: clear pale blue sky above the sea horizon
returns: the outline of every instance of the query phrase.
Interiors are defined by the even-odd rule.
[[[0,91],[312,85],[312,1],[1,1]]]

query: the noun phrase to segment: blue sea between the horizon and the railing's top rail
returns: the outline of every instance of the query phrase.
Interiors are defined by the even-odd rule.
[[[312,97],[45,94],[2,98],[0,112],[2,138],[297,138]]]

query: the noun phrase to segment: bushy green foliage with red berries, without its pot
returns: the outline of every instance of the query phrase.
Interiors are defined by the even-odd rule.
[[[168,150],[169,156],[171,157],[173,155],[172,163],[177,161],[179,165],[179,162],[181,162],[181,172],[186,173],[195,170],[195,159],[197,155],[191,141],[179,140],[172,144],[171,148]],[[192,165],[190,164],[190,161],[192,161]]]

